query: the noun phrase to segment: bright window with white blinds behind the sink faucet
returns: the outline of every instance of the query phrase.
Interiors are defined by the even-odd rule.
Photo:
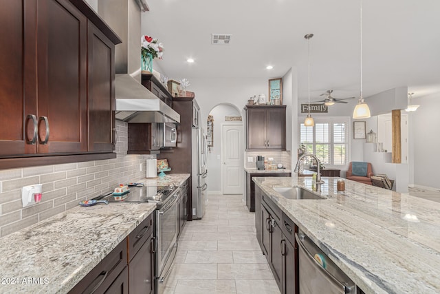
[[[323,164],[346,165],[348,151],[347,121],[321,121],[315,119],[314,127],[300,125],[301,145],[306,152],[316,154]]]

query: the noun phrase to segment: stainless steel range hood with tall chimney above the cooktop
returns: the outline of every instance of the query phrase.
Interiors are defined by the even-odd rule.
[[[98,14],[120,36],[115,47],[115,118],[128,123],[180,123],[180,115],[144,87],[140,71],[141,8],[137,1],[98,0]]]

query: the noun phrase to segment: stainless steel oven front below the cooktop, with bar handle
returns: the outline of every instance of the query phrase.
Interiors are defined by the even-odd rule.
[[[175,189],[162,207],[155,211],[155,237],[157,240],[155,293],[164,292],[164,286],[177,253],[177,198],[179,198],[179,189]]]

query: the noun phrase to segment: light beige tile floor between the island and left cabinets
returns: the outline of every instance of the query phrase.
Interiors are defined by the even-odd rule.
[[[280,293],[242,198],[208,195],[203,219],[186,222],[165,293]]]

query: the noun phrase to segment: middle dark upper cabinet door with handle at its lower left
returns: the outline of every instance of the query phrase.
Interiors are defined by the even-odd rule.
[[[36,3],[38,153],[87,151],[87,18],[67,0]]]

